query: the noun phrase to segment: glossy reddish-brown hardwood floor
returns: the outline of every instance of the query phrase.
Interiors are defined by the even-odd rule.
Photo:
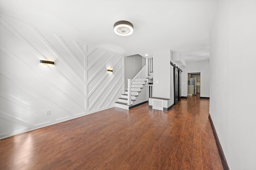
[[[0,170],[222,170],[209,99],[110,108],[0,142]]]

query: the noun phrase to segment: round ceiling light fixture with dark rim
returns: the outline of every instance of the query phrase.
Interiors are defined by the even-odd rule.
[[[133,25],[129,21],[117,21],[114,24],[114,32],[121,36],[131,35],[133,33]]]

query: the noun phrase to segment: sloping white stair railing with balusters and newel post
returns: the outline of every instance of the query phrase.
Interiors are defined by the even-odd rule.
[[[133,79],[128,80],[128,102],[127,105],[132,105],[132,100],[135,100],[140,92],[140,88],[143,88],[147,78],[147,64],[138,72],[138,74]]]

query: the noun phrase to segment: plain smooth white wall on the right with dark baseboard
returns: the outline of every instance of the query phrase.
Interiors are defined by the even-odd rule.
[[[221,0],[211,33],[210,115],[232,170],[256,167],[256,1]]]

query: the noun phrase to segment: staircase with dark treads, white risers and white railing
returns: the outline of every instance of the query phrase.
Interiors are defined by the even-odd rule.
[[[153,58],[146,59],[146,65],[138,72],[133,79],[128,79],[128,90],[124,91],[116,107],[123,109],[131,109],[148,102],[148,98],[152,94],[152,78],[153,78]],[[150,89],[148,82],[151,84]],[[149,91],[150,90],[150,91]]]

